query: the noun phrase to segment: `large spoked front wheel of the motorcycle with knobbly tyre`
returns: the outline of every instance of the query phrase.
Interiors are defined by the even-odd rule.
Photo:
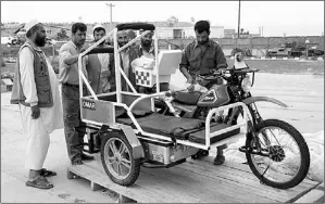
[[[289,139],[291,140],[280,138],[282,135],[277,135],[277,136],[274,135],[279,131],[273,130],[272,131],[273,135],[270,135],[271,131],[267,131],[268,132],[268,135],[266,135],[267,139],[265,140],[265,135],[264,135],[262,138],[261,148],[262,148],[262,152],[265,151],[268,154],[268,156],[251,154],[249,151],[246,152],[247,162],[252,173],[260,179],[262,183],[265,183],[274,188],[289,189],[299,184],[305,178],[310,167],[310,152],[302,135],[290,124],[278,119],[266,119],[260,123],[259,125],[257,125],[255,128],[257,128],[257,137],[259,139],[261,139],[261,136],[263,136],[262,132],[264,133],[266,132],[264,130],[270,128],[277,128],[280,129],[282,131],[287,132],[290,136]],[[275,138],[276,140],[274,140]],[[252,151],[257,150],[255,144],[253,144],[254,142],[252,142],[253,140],[254,139],[252,139],[251,137],[248,137],[246,141],[246,146],[251,146]],[[267,145],[268,148],[264,145],[264,143],[267,143],[267,140],[270,142],[270,145]],[[284,145],[280,144],[280,142],[283,141],[284,141]],[[292,145],[296,144],[298,151],[292,152],[291,149],[288,149],[289,146],[287,145],[289,143]],[[285,152],[286,150],[288,151]],[[258,157],[260,157],[260,160],[257,160]],[[296,163],[293,167],[293,165],[289,163],[292,161],[300,164],[297,166]],[[287,163],[288,166],[285,165],[278,166],[278,163],[284,163],[285,165]],[[258,166],[260,164],[265,165],[266,167],[263,169],[260,166]],[[273,164],[277,165],[276,169],[273,169]],[[263,175],[264,171],[265,175]],[[272,177],[271,173],[274,173],[275,176]]]

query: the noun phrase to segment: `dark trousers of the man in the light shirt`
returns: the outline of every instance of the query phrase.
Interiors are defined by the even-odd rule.
[[[87,94],[84,88],[84,95]],[[71,161],[82,160],[86,124],[80,120],[79,88],[62,84],[62,106],[64,135],[66,141],[67,155]],[[82,130],[82,131],[80,131]]]

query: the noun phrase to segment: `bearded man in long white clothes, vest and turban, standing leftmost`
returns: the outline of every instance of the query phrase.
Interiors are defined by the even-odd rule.
[[[63,127],[59,81],[51,63],[40,50],[46,30],[38,21],[25,24],[26,42],[17,54],[11,103],[18,104],[27,132],[25,167],[29,169],[27,187],[51,189],[46,177],[55,171],[42,168],[50,145],[50,133]]]

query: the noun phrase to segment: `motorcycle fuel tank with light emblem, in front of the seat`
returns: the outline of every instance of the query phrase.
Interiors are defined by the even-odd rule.
[[[200,97],[198,106],[217,107],[227,104],[229,101],[227,85],[213,85]]]

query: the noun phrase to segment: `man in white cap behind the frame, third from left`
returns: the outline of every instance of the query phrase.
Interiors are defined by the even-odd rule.
[[[105,36],[105,28],[102,25],[96,25],[92,28],[93,40],[97,42],[101,38]],[[105,41],[100,43],[98,48],[107,47]],[[115,87],[114,85],[114,67],[112,67],[112,63],[110,63],[111,59],[114,58],[109,53],[100,53],[100,54],[90,54],[87,55],[87,73],[88,79],[90,80],[90,86],[95,93],[107,93],[111,91],[111,88]]]

